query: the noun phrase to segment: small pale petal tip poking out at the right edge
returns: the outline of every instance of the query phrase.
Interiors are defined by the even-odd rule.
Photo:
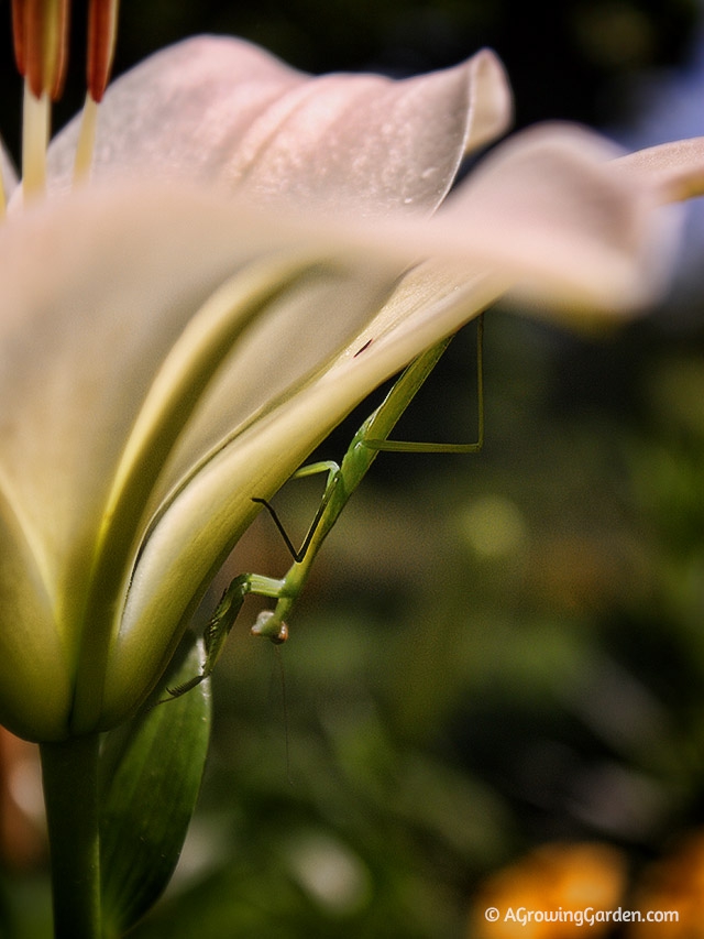
[[[615,165],[654,186],[662,201],[704,196],[704,137],[639,150],[616,160]]]

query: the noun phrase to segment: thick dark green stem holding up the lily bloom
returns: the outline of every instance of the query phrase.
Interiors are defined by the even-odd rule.
[[[55,939],[99,939],[98,735],[43,743]]]

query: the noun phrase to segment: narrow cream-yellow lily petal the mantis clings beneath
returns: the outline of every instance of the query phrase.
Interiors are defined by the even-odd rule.
[[[108,664],[106,727],[134,706],[165,664],[179,624],[183,630],[193,612],[194,598],[258,511],[251,498],[276,491],[371,389],[476,315],[496,298],[501,286],[479,272],[462,286],[442,267],[416,272],[380,313],[376,338],[364,352],[341,356],[323,378],[200,467],[172,499],[140,557]],[[408,323],[411,328],[406,328]]]

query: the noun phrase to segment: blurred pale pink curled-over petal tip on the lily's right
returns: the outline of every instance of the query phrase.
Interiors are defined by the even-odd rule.
[[[576,125],[515,134],[433,218],[406,225],[406,245],[417,239],[419,255],[483,262],[551,315],[632,312],[667,283],[674,245],[667,220],[679,214],[653,225],[660,188],[618,170],[616,155]]]

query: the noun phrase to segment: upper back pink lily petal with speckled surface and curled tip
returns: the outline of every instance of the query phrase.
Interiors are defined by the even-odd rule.
[[[428,211],[462,156],[501,134],[510,91],[496,56],[400,81],[305,75],[241,40],[201,36],[157,53],[108,90],[95,178],[135,173],[220,182],[254,201],[326,212]],[[50,175],[70,184],[77,122]]]

